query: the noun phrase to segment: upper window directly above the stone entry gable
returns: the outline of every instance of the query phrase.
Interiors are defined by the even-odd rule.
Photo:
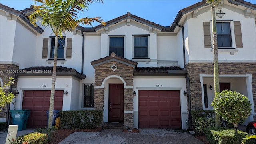
[[[109,38],[109,55],[114,52],[118,56],[124,57],[124,37]]]

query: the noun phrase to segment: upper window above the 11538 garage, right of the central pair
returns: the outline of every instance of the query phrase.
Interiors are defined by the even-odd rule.
[[[148,58],[148,36],[134,36],[134,58]]]

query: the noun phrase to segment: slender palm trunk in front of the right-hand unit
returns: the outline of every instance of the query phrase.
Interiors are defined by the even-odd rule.
[[[221,0],[206,0],[206,3],[210,4],[212,10],[212,40],[213,40],[213,65],[214,65],[214,95],[220,92],[219,84],[219,65],[218,65],[218,42],[217,42],[217,24],[215,17],[215,6],[220,3]],[[220,127],[220,115],[215,114],[215,126]]]

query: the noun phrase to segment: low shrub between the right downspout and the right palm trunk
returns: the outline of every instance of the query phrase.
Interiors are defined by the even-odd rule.
[[[215,118],[197,118],[195,124],[196,132],[203,133],[204,128],[215,126]]]

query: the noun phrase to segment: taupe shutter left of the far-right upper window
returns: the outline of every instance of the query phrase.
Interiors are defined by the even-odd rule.
[[[210,22],[203,22],[204,48],[212,48]]]

